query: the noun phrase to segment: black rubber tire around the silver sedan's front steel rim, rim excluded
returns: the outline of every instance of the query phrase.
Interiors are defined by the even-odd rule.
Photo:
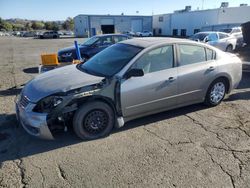
[[[83,128],[83,121],[85,116],[93,110],[103,110],[108,115],[108,126],[98,134],[90,134]],[[73,118],[73,128],[78,137],[83,140],[93,140],[107,136],[114,127],[114,112],[112,108],[104,102],[88,102],[83,104],[75,113]]]

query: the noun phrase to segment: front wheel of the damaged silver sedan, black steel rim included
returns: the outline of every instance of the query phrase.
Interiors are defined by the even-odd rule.
[[[98,118],[101,119],[98,121]],[[83,140],[93,140],[107,136],[114,127],[114,112],[104,102],[83,104],[75,113],[73,128]]]

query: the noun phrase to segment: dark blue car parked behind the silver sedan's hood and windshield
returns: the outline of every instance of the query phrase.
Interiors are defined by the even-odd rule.
[[[83,44],[79,44],[81,57],[85,60],[117,42],[130,39],[131,37],[123,34],[106,34],[90,38]],[[59,62],[72,62],[76,57],[75,46],[64,48],[58,52]]]

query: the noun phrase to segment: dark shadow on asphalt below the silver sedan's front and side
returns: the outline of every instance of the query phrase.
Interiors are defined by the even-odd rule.
[[[205,106],[203,105],[192,105],[178,110],[172,110],[156,115],[147,116],[145,118],[126,123],[123,128],[114,130],[111,135],[157,121],[171,119],[177,116],[191,113],[193,111],[199,111],[204,108]],[[1,116],[3,115],[0,115],[0,117]],[[16,121],[16,119],[13,119],[13,117],[13,114],[6,117],[7,119],[9,119],[9,121],[6,121],[5,124],[11,125],[10,127],[5,126],[5,128],[2,129],[0,127],[0,138],[2,135],[2,140],[0,139],[0,163],[7,160],[15,160],[18,158],[48,152],[78,143],[84,144],[84,142],[89,142],[78,139],[72,129],[69,129],[67,133],[57,133],[55,135],[55,140],[40,140],[29,136],[22,127],[17,126],[18,122]]]

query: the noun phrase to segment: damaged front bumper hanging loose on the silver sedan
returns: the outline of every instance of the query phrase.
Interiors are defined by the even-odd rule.
[[[22,99],[21,99],[22,100]],[[33,112],[36,104],[16,101],[16,116],[22,127],[32,136],[51,140],[54,139],[47,125],[46,113]]]

